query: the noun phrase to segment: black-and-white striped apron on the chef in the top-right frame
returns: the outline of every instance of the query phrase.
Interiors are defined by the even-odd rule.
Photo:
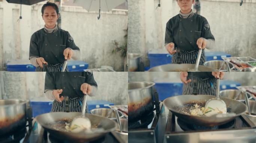
[[[182,64],[195,64],[197,58],[198,51],[180,51],[180,59]],[[199,61],[199,65],[203,65],[205,62],[205,53],[202,50],[202,55]],[[177,63],[177,52],[173,54],[173,58],[171,61],[172,64]]]

